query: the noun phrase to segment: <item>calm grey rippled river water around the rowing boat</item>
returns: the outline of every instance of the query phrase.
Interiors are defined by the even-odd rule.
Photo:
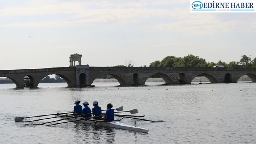
[[[95,88],[67,88],[65,83],[40,83],[35,89],[16,89],[14,84],[0,84],[0,143],[256,143],[256,83],[172,86],[146,83],[148,86],[140,87],[118,87],[118,84],[94,83]],[[102,109],[106,109],[109,102],[114,108],[137,108],[139,113],[136,115],[165,122],[128,118],[121,121],[129,125],[136,121],[138,127],[148,128],[149,134],[76,122],[52,127],[14,122],[15,116],[70,112],[76,99],[89,101],[90,108],[94,100]]]

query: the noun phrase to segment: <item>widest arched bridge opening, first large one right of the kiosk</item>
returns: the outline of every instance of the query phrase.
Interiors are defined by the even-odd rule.
[[[105,83],[107,82],[107,83]],[[95,78],[90,78],[90,83],[95,86],[104,86],[105,84],[111,85],[111,86],[118,86],[118,85],[127,85],[128,83],[126,80],[119,75],[116,74],[111,74],[111,73],[105,73],[105,74],[100,74]]]

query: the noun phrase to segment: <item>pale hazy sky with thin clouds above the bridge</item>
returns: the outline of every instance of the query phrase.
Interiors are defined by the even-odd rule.
[[[169,55],[256,57],[256,13],[190,13],[188,0],[1,0],[0,70],[147,65]],[[31,36],[31,38],[29,37]]]

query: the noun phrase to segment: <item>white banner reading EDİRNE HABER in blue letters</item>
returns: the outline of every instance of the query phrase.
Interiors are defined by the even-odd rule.
[[[256,0],[190,0],[191,13],[254,13]]]

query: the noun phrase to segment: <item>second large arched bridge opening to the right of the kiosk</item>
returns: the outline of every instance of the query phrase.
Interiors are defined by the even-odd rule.
[[[174,80],[164,72],[157,72],[152,74],[145,82],[146,85],[155,84],[174,84]]]

